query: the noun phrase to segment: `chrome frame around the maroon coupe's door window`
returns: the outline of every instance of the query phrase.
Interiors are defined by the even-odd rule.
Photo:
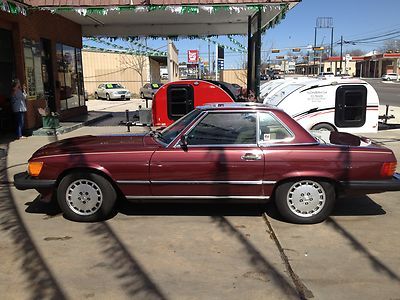
[[[211,110],[211,111],[205,111],[204,114],[200,114],[198,116],[198,120],[194,122],[189,129],[184,131],[184,135],[189,134],[195,126],[197,126],[208,114],[210,113],[254,113],[256,116],[256,143],[255,144],[204,144],[204,145],[187,145],[188,148],[227,148],[227,147],[232,147],[232,148],[254,148],[258,147],[259,143],[259,118],[258,118],[258,111],[257,110]],[[178,138],[178,137],[177,137]],[[171,142],[172,144],[173,142]],[[168,145],[169,146],[169,145]],[[173,148],[178,148],[179,146],[179,139],[178,141],[175,142]]]

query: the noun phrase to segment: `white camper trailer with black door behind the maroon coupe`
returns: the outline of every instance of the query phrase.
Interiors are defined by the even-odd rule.
[[[359,79],[336,77],[291,83],[270,93],[264,103],[283,109],[307,130],[378,130],[378,94]]]

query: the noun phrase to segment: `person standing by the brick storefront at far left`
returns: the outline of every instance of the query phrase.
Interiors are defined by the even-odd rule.
[[[11,85],[11,107],[17,120],[17,138],[25,138],[22,136],[22,130],[26,113],[26,94],[21,88],[19,79],[15,79]]]

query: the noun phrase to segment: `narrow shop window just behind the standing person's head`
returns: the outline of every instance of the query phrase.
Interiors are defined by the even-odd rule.
[[[28,99],[43,97],[42,56],[39,42],[23,40],[26,93]]]

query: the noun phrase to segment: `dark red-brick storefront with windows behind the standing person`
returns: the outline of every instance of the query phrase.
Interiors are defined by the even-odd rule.
[[[13,79],[26,87],[25,129],[42,126],[39,108],[65,119],[87,113],[81,26],[48,11],[0,11],[0,130],[13,130],[9,104]]]

